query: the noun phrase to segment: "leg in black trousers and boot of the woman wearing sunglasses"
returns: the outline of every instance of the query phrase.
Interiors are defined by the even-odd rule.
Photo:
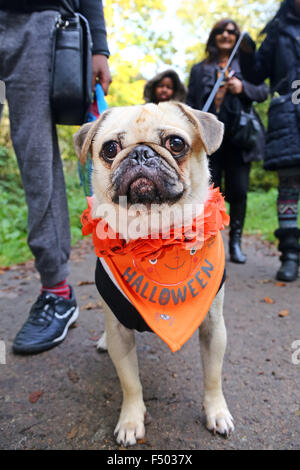
[[[236,149],[228,154],[225,169],[225,198],[230,204],[229,254],[234,263],[245,263],[241,240],[247,208],[250,163],[244,163]]]

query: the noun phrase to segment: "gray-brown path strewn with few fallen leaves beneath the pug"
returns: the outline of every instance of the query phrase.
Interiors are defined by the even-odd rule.
[[[293,364],[300,362],[300,278],[277,283],[275,249],[255,237],[246,237],[244,248],[246,265],[227,264],[225,296],[224,392],[235,433],[225,440],[204,427],[197,334],[173,354],[143,333],[137,349],[152,422],[146,442],[133,449],[300,448],[300,364]],[[92,285],[94,265],[84,241],[72,252],[70,278],[81,307],[78,325],[59,347],[31,357],[13,355],[11,344],[38,294],[37,275],[32,263],[0,274],[0,340],[6,346],[1,449],[118,449],[113,430],[121,392],[108,355],[95,348],[104,319]],[[288,314],[279,316],[282,311]]]

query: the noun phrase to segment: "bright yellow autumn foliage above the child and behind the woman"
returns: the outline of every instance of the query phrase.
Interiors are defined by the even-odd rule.
[[[106,0],[105,18],[111,49],[113,82],[107,101],[110,106],[143,102],[143,88],[149,70],[157,73],[172,66],[180,49],[179,72],[185,75],[193,63],[202,60],[213,24],[220,18],[236,20],[254,39],[274,15],[279,0]],[[177,8],[181,37],[172,29],[166,5]],[[179,44],[179,46],[178,46]],[[187,44],[185,47],[184,44]]]

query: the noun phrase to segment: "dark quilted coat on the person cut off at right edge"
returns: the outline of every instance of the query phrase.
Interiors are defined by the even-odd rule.
[[[274,98],[269,109],[264,167],[278,170],[300,166],[300,105],[292,103],[294,80],[300,78],[300,18],[276,20],[255,53],[240,54],[243,75],[254,84],[270,78]]]

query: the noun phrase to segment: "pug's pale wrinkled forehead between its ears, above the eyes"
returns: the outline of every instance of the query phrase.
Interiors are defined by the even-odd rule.
[[[152,103],[139,106],[112,109],[99,127],[95,139],[105,141],[118,137],[124,147],[135,143],[160,143],[162,133],[179,132],[190,140],[193,126],[184,119],[180,108],[175,106],[155,105]]]

